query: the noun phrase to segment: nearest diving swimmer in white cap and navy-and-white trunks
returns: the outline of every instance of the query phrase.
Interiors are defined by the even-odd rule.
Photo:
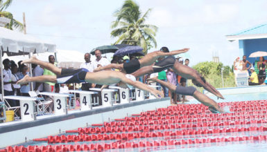
[[[42,75],[38,77],[29,77],[26,75],[23,79],[20,79],[17,84],[26,84],[28,82],[53,82],[58,84],[89,82],[94,84],[109,85],[119,83],[119,86],[123,88],[126,88],[128,85],[135,86],[136,88],[150,92],[157,98],[159,98],[159,96],[163,97],[163,93],[157,91],[155,88],[151,88],[146,84],[137,82],[135,81],[135,77],[132,77],[132,75],[126,75],[125,73],[121,73],[119,71],[103,70],[97,73],[90,73],[85,68],[80,68],[78,70],[58,68],[48,62],[40,61],[35,56],[22,61],[21,64],[38,64],[44,68],[47,68],[48,70],[51,70],[57,76]]]

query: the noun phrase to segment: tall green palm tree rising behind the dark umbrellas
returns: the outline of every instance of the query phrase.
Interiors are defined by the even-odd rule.
[[[157,26],[145,23],[150,11],[151,9],[148,9],[141,16],[137,3],[132,0],[124,1],[121,9],[114,13],[117,20],[112,22],[112,28],[116,29],[112,30],[111,35],[119,37],[114,44],[141,46],[145,55],[150,48],[157,47]]]

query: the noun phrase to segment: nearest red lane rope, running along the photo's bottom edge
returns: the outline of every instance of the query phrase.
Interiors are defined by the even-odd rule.
[[[267,135],[242,136],[242,137],[216,137],[188,140],[159,140],[159,141],[139,141],[139,142],[112,142],[110,144],[67,144],[48,146],[8,146],[6,151],[104,151],[109,149],[137,149],[153,146],[171,146],[185,144],[203,144],[220,142],[243,142],[243,141],[266,141]],[[141,150],[139,149],[139,150]]]

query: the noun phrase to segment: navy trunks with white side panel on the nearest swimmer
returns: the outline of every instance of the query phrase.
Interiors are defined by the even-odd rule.
[[[62,68],[61,75],[57,75],[58,84],[72,84],[85,82],[85,75],[89,72],[86,68],[74,70],[71,68]]]

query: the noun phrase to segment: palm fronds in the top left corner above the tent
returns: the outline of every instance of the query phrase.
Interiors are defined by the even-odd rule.
[[[3,11],[6,10],[6,8],[8,8],[11,3],[12,0],[6,0],[5,2],[3,2],[3,0],[0,0],[0,17],[6,17],[10,19],[10,23],[7,23],[5,28],[8,28],[10,30],[13,30],[13,28],[18,28],[19,30],[23,30],[23,24],[14,19],[11,12]]]

